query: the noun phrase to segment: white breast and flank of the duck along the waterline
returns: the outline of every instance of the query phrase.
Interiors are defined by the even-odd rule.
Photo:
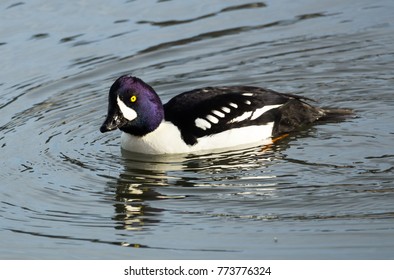
[[[163,122],[144,137],[122,133],[122,148],[144,154],[183,154],[201,151],[229,149],[241,146],[272,143],[273,122],[260,126],[247,126],[198,138],[198,143],[189,146],[183,142],[179,129],[170,122]]]

